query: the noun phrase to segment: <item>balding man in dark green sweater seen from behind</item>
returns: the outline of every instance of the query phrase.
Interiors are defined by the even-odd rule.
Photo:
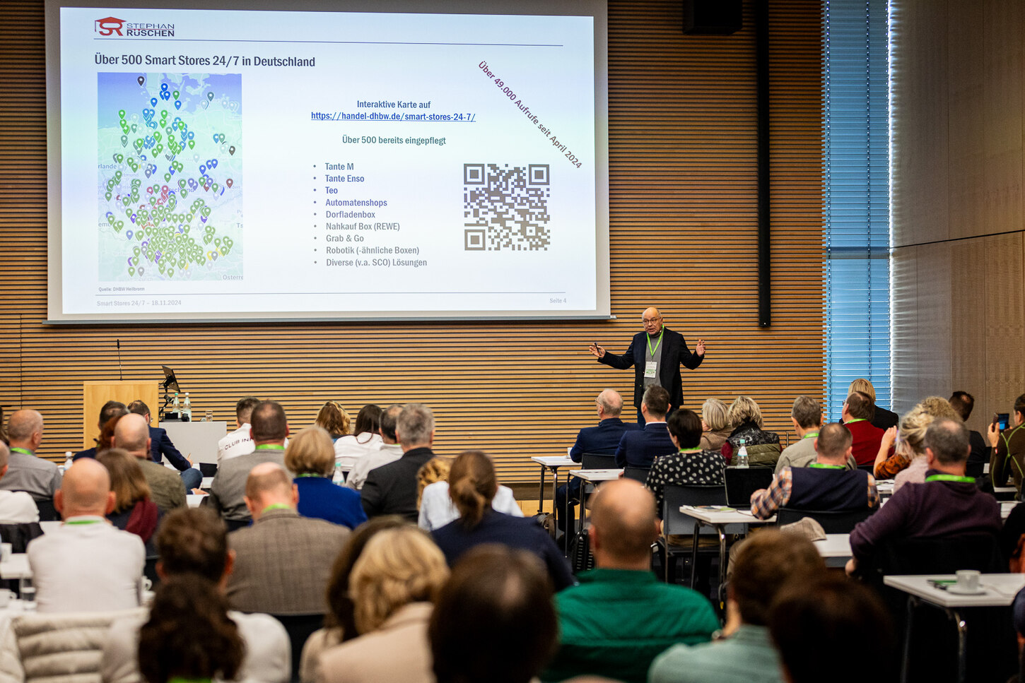
[[[590,674],[644,683],[659,652],[711,638],[719,618],[708,600],[689,588],[659,583],[652,573],[657,536],[650,490],[630,479],[599,489],[590,528],[598,568],[556,595],[562,636],[542,681]]]

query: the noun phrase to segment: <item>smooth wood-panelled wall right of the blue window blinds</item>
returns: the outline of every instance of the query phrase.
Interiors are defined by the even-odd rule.
[[[894,17],[895,399],[969,391],[984,430],[1025,392],[1025,8]]]

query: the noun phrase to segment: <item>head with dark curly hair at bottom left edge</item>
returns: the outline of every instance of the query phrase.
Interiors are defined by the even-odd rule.
[[[236,680],[246,647],[216,586],[180,577],[157,588],[137,651],[147,683],[195,683]]]

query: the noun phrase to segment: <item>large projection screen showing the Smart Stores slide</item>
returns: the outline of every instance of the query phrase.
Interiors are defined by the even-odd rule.
[[[608,315],[594,16],[52,14],[52,322]]]

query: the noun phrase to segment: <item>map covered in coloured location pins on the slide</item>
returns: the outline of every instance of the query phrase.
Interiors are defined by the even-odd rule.
[[[242,276],[240,74],[97,74],[99,280]]]

